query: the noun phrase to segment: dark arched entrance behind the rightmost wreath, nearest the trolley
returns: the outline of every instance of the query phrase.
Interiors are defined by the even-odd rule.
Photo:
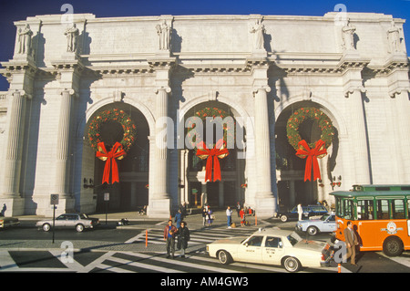
[[[333,120],[333,141],[327,149],[327,155],[323,159],[318,159],[322,179],[317,181],[304,181],[306,160],[296,156],[296,151],[287,138],[287,121],[295,110],[301,108],[320,109]],[[280,113],[275,123],[275,158],[279,207],[282,211],[291,209],[298,203],[323,203],[328,199],[328,192],[333,189],[333,179],[337,179],[333,178],[332,173],[339,145],[338,130],[335,126],[334,119],[328,110],[312,101],[295,102]],[[304,120],[298,131],[302,140],[308,143],[320,140],[322,134],[317,120]]]

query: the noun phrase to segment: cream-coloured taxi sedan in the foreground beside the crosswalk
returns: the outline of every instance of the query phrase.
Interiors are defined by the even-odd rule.
[[[207,244],[207,252],[221,264],[282,265],[288,272],[297,272],[302,266],[326,266],[331,260],[329,244],[302,240],[295,232],[278,229],[263,229],[249,237],[215,241]]]

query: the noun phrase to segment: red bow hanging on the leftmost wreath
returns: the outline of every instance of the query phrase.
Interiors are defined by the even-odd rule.
[[[101,161],[106,161],[102,183],[107,182],[109,184],[109,172],[111,170],[111,182],[119,182],[118,165],[116,159],[122,160],[127,154],[126,151],[122,149],[122,145],[119,142],[116,142],[111,151],[108,152],[104,142],[99,142],[97,144],[97,150],[97,158]]]

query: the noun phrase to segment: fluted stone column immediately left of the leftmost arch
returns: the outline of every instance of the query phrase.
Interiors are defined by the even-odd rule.
[[[60,194],[60,198],[69,196],[70,117],[73,95],[75,95],[73,89],[64,89],[61,92],[61,107],[56,140],[56,182],[54,188],[54,192]]]

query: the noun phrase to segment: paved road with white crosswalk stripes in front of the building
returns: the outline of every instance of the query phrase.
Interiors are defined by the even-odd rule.
[[[193,217],[192,217],[193,218]],[[188,220],[188,218],[187,218]],[[24,222],[20,228],[2,231],[0,235],[0,272],[83,272],[83,273],[284,273],[280,266],[234,263],[220,265],[205,252],[205,245],[216,239],[249,235],[259,226],[279,226],[292,229],[294,222],[266,223],[258,226],[227,229],[223,219],[210,228],[203,228],[198,219],[190,219],[191,240],[187,258],[167,259],[162,239],[165,221],[131,222],[129,227],[115,227],[115,222],[105,223],[96,230],[76,233],[74,230],[56,231],[52,234],[38,231],[34,222]],[[146,246],[146,230],[148,245]],[[319,234],[317,240],[326,241],[329,234]],[[67,249],[67,247],[69,247]],[[72,253],[70,253],[72,251]],[[67,257],[67,253],[70,256]],[[69,260],[73,258],[73,261]],[[342,265],[343,273],[409,273],[410,252],[389,258],[382,252],[366,252],[358,255],[358,267]],[[302,272],[337,272],[337,265],[328,268],[309,269]]]

